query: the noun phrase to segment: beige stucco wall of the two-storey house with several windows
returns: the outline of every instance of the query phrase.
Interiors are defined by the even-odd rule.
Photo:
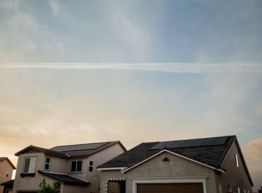
[[[50,172],[59,172],[72,175],[73,177],[79,178],[81,180],[86,180],[91,182],[91,185],[87,187],[79,187],[74,185],[64,185],[62,187],[62,192],[99,192],[100,187],[100,171],[96,170],[98,165],[105,163],[106,161],[118,156],[120,153],[123,153],[124,150],[119,144],[110,146],[98,153],[91,155],[89,158],[77,158],[67,160],[65,158],[57,158],[54,156],[47,156],[45,153],[24,153],[18,156],[18,166],[16,170],[16,180],[13,186],[13,192],[16,193],[20,190],[37,190],[39,189],[39,184],[42,181],[42,178],[45,176],[40,175],[38,170],[44,170],[45,167],[45,158],[51,158]],[[35,165],[35,176],[34,177],[21,177],[23,172],[23,162],[26,157],[37,157]],[[82,160],[82,171],[81,172],[70,172],[70,165],[72,160]],[[89,172],[89,160],[93,161],[93,172]],[[45,177],[47,182],[54,182],[49,177]],[[79,190],[81,189],[81,190]]]

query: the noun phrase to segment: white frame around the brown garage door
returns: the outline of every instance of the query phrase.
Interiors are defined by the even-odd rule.
[[[140,178],[132,179],[132,193],[137,193],[137,184],[168,184],[168,183],[203,183],[203,193],[207,193],[207,177],[175,177],[175,178]]]

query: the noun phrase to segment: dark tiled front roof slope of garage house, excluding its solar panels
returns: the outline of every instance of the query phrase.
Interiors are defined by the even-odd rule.
[[[222,136],[225,137],[225,136]],[[222,137],[217,137],[218,139]],[[214,139],[214,138],[205,138],[205,139]],[[98,168],[121,168],[127,167],[130,168],[132,165],[135,165],[141,162],[144,159],[153,156],[154,154],[162,151],[163,149],[169,149],[169,151],[173,153],[177,153],[181,156],[185,156],[186,158],[190,158],[196,160],[200,163],[204,163],[205,165],[210,165],[214,168],[220,168],[222,162],[227,156],[227,152],[231,147],[234,139],[236,136],[227,136],[227,141],[225,141],[222,145],[209,145],[209,146],[183,146],[177,148],[154,148],[156,145],[159,146],[160,143],[163,142],[149,142],[149,143],[142,143],[135,148],[130,149],[125,153],[120,154],[116,158],[109,160],[108,162],[98,166]],[[195,139],[192,139],[195,140]],[[198,139],[204,140],[204,139]],[[183,144],[186,143],[188,140],[179,140],[179,143]],[[175,144],[178,141],[164,141]]]

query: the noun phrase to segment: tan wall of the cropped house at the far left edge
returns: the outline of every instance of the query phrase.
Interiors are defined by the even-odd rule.
[[[6,177],[8,172],[8,177]],[[0,163],[0,184],[8,180],[12,180],[13,167],[10,165],[8,160],[3,160]],[[4,191],[4,187],[0,186],[0,193]]]

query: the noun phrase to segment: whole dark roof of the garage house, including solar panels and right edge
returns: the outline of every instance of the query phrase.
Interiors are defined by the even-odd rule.
[[[188,160],[193,160],[196,163],[214,168],[215,170],[224,171],[222,164],[234,141],[236,141],[237,147],[239,148],[239,154],[243,160],[246,174],[253,186],[249,170],[237,141],[237,136],[142,143],[130,149],[130,151],[122,153],[112,160],[99,165],[98,168],[111,168],[111,170],[112,168],[118,170],[123,169],[123,172],[126,172],[131,168],[135,168],[139,163],[143,163],[145,160],[153,158],[163,151],[168,151],[183,158],[187,158]]]

